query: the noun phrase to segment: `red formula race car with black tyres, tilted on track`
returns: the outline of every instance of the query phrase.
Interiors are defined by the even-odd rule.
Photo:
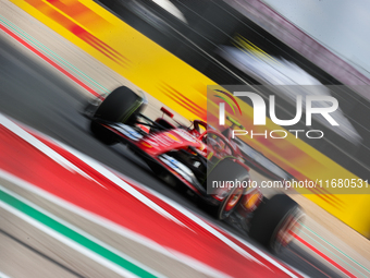
[[[285,194],[270,200],[250,188],[246,157],[230,131],[201,120],[185,126],[173,119],[151,120],[141,112],[147,101],[127,87],[114,89],[85,111],[92,134],[104,144],[124,143],[166,183],[185,186],[218,219],[232,219],[267,247],[279,250],[301,220],[298,204]],[[173,114],[161,108],[166,118]],[[146,129],[143,129],[146,126]]]

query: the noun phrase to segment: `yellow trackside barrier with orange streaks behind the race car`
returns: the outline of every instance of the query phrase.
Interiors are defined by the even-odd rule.
[[[63,3],[61,3],[61,1],[52,1],[52,3],[48,3],[46,13],[35,9],[35,5],[37,7],[38,4],[42,7],[46,5],[46,3],[41,3],[38,0],[29,0],[28,2],[12,0],[11,2],[75,44],[77,47],[84,49],[87,53],[91,55],[91,57],[101,61],[116,73],[135,83],[135,85],[139,86],[143,90],[150,92],[151,95],[161,99],[164,105],[176,110],[185,118],[205,118],[205,114],[196,113],[194,110],[190,111],[187,106],[184,106],[184,100],[186,100],[184,96],[186,95],[186,98],[188,99],[197,99],[200,107],[206,107],[206,86],[215,83],[196,71],[189,64],[171,55],[171,52],[165,51],[165,49],[161,48],[135,28],[125,24],[95,1],[81,1],[82,5],[85,5],[84,8],[76,3],[78,1],[63,1]],[[4,7],[8,7],[9,3],[9,1],[1,0],[1,4],[4,4]],[[109,45],[115,51],[124,53],[125,57],[130,58],[130,61],[132,62],[131,67],[120,67],[115,61],[107,57],[107,53],[101,52],[103,49],[95,48],[95,46],[98,45],[91,46],[87,44],[83,40],[84,38],[78,37],[77,33],[73,33],[73,29],[69,28],[70,25],[65,24],[65,19],[71,21],[71,15],[76,15],[73,14],[73,9],[75,7],[78,7],[76,12],[79,16],[82,9],[85,9],[86,14],[89,15],[87,22],[77,19],[77,27],[89,29],[91,32],[90,35]],[[63,12],[66,8],[69,9],[67,13],[70,13],[67,16],[65,16],[66,13]],[[12,7],[12,9],[14,9],[14,7]],[[89,25],[94,21],[101,23],[101,19],[104,19],[104,21],[111,24],[110,32],[106,32],[103,28],[104,24],[107,24],[106,22],[103,24],[94,24],[94,28],[91,28],[92,25]],[[85,28],[83,29],[85,31]],[[81,34],[85,33],[82,32]],[[122,44],[121,38],[123,36],[127,38],[125,44]],[[173,69],[176,69],[176,71]],[[174,97],[175,95],[169,97],[169,95],[165,94],[168,93],[168,89],[163,89],[163,84],[168,84],[176,92],[181,93],[181,98],[178,98],[178,95],[177,97]],[[246,111],[250,111],[251,108],[246,107],[245,109]],[[250,118],[246,118],[245,120],[246,122],[250,122]],[[248,126],[247,124],[243,125]],[[270,124],[268,128],[270,130],[275,130]],[[284,141],[281,145],[279,145],[278,141],[270,141],[266,144],[259,143],[258,141],[248,141],[246,143],[263,153],[266,157],[300,180],[306,178],[309,178],[310,180],[328,180],[337,178],[337,173],[343,174],[343,178],[357,179],[356,176],[346,171],[343,167],[300,140],[299,143],[298,141]],[[287,156],[289,156],[291,159],[286,159]],[[359,209],[359,206],[353,206],[353,204],[358,204],[359,198],[362,198],[360,202],[363,204],[368,204],[368,200],[363,196],[365,195],[350,195],[346,198],[338,196],[344,202],[344,209],[342,209],[333,205],[332,202],[329,202],[328,198],[321,198],[320,195],[308,195],[308,197],[324,207],[329,213],[333,214],[360,233],[367,234],[369,221],[363,220],[363,216],[353,217],[354,215],[361,215],[360,210],[365,210],[368,207],[368,205],[363,205],[363,209]]]

